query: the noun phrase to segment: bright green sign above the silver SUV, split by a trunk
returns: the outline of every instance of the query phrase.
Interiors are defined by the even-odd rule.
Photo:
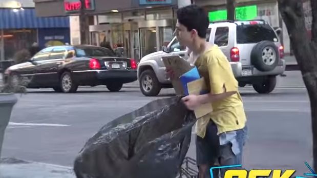
[[[224,21],[227,19],[227,10],[218,10],[209,12],[209,21]],[[243,6],[236,7],[236,19],[240,21],[247,21],[254,19],[258,16],[258,7],[256,5],[253,6]]]

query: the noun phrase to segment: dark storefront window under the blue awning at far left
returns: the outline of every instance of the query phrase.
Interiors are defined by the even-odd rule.
[[[12,60],[17,51],[29,49],[34,42],[37,42],[36,29],[4,30],[5,59]]]

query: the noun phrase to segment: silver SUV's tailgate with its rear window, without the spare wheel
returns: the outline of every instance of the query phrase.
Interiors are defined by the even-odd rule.
[[[242,65],[251,65],[251,51],[257,43],[271,41],[278,47],[279,38],[270,25],[259,21],[237,24],[237,47]]]

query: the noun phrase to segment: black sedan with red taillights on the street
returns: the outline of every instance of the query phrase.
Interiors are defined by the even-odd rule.
[[[39,51],[28,62],[9,67],[5,78],[27,78],[27,88],[53,88],[57,92],[97,85],[119,91],[123,84],[137,80],[137,64],[131,58],[116,57],[108,48],[54,46]]]

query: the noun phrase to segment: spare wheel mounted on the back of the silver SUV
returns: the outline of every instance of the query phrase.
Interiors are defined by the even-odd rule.
[[[251,51],[251,64],[260,71],[271,71],[279,64],[277,46],[270,41],[262,41]]]

